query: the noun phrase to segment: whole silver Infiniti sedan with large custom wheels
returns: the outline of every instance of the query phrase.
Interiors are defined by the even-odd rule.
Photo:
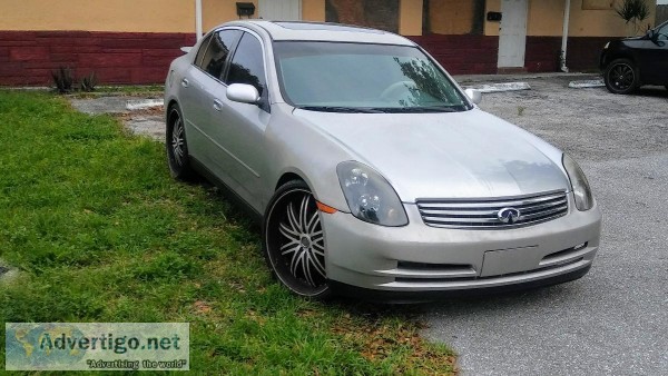
[[[601,226],[582,170],[479,100],[393,33],[229,22],[171,63],[168,164],[245,204],[273,274],[304,297],[582,277]]]

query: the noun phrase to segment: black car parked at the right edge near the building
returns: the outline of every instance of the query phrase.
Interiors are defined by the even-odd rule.
[[[668,22],[642,37],[611,40],[601,53],[600,69],[613,93],[630,93],[642,85],[668,89]]]

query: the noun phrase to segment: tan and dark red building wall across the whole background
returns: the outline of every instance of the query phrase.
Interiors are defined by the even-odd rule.
[[[79,77],[95,71],[104,83],[161,82],[181,46],[195,41],[194,0],[21,0],[2,1],[0,12],[0,85],[48,85],[50,72],[69,67]],[[252,0],[257,6],[257,0]],[[302,0],[304,20],[324,21],[326,1]],[[366,0],[371,10],[386,7]],[[431,33],[422,36],[423,0],[393,0],[393,28],[426,48],[452,73],[493,73],[499,22],[473,27],[483,0],[429,1]],[[613,6],[621,0],[571,0],[568,66],[593,69],[610,37],[632,34]],[[649,0],[650,20],[655,1]],[[203,0],[204,30],[237,19],[236,0]],[[529,0],[525,68],[557,69],[564,0]],[[499,11],[501,0],[487,0],[484,11]],[[47,8],[48,7],[48,8]],[[350,9],[348,9],[350,10]],[[353,12],[354,13],[354,12]],[[365,24],[363,21],[352,23]],[[357,14],[358,16],[358,14]],[[480,18],[478,18],[480,22]]]

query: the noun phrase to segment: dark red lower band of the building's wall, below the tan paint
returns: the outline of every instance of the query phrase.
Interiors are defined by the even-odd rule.
[[[453,75],[495,73],[499,38],[428,34],[410,37]],[[608,38],[573,37],[571,70],[595,70]],[[160,83],[169,62],[193,46],[194,34],[86,31],[0,31],[0,85],[48,86],[51,71],[72,68],[78,78],[95,72],[100,83]],[[525,68],[557,71],[560,37],[527,37]]]

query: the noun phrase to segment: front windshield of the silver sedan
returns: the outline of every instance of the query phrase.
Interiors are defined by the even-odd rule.
[[[452,81],[409,46],[277,41],[285,100],[331,112],[452,112],[469,109]]]

